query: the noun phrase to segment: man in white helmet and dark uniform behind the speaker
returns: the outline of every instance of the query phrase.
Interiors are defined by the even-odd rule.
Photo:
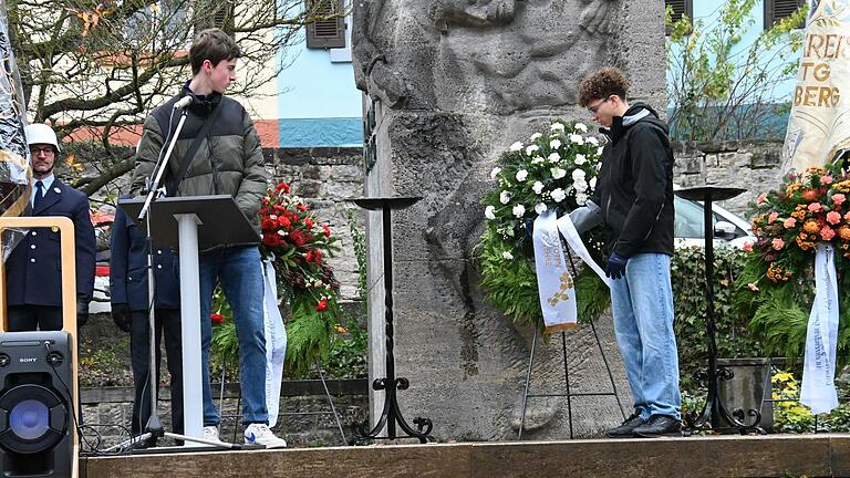
[[[27,126],[32,163],[32,198],[24,216],[63,216],[74,222],[77,326],[89,320],[94,291],[94,226],[89,197],[53,176],[59,157],[50,126]],[[59,228],[34,228],[6,261],[9,331],[62,330],[62,274]]]

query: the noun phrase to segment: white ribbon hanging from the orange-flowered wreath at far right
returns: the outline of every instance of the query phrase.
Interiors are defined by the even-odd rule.
[[[835,251],[818,245],[815,254],[815,303],[806,331],[800,403],[811,413],[828,413],[838,406],[836,347],[838,344],[838,282]]]

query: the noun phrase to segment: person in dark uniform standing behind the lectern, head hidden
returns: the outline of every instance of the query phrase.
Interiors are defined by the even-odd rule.
[[[129,198],[124,196],[123,198]],[[133,220],[118,209],[110,240],[110,301],[112,320],[129,332],[133,364],[133,435],[145,429],[151,417],[151,326],[148,318],[147,238]],[[159,343],[165,333],[165,352],[172,375],[172,428],[183,434],[183,351],[180,349],[180,287],[176,276],[176,258],[169,249],[154,249],[154,306],[156,337],[156,383],[159,383],[162,354]],[[152,445],[153,443],[148,443]]]

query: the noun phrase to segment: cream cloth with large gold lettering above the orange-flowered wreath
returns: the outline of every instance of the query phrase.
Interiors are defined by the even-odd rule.
[[[850,0],[812,2],[806,24],[782,172],[821,167],[850,150]]]

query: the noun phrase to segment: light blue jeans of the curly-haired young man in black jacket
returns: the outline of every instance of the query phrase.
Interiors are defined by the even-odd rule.
[[[611,311],[634,408],[644,419],[650,415],[681,419],[670,256],[630,258],[625,276],[611,281]]]

